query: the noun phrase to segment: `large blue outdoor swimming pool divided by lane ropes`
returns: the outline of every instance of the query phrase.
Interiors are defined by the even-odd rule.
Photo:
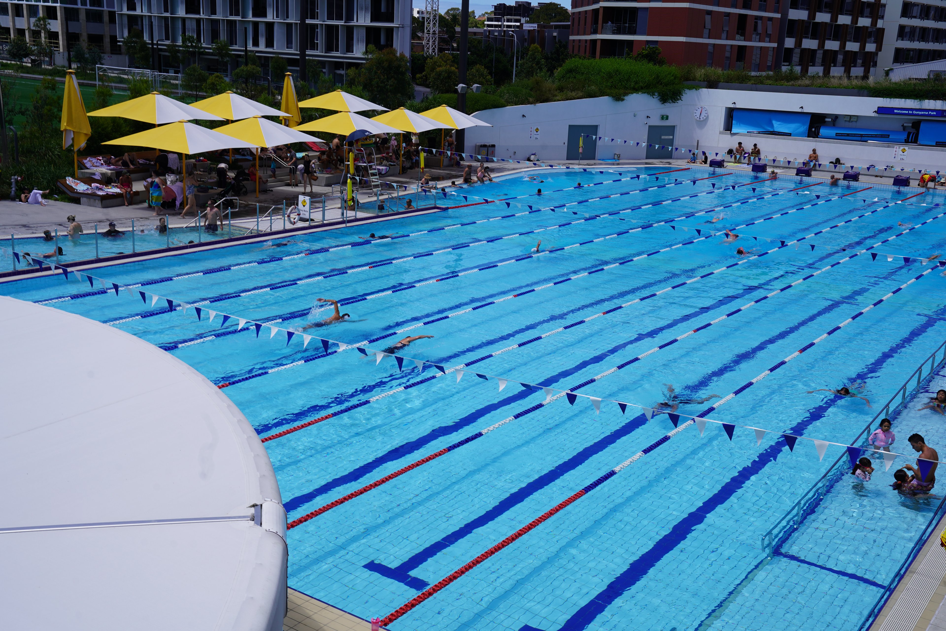
[[[895,494],[893,469],[875,462],[871,482],[834,484],[767,561],[762,535],[841,447],[822,461],[810,441],[790,451],[780,434],[757,444],[742,427],[730,441],[717,424],[701,436],[687,416],[667,439],[670,417],[648,422],[634,405],[657,406],[673,384],[681,401],[720,395],[681,414],[854,440],[876,409],[806,393],[864,380],[880,405],[946,337],[946,279],[917,258],[946,248],[944,196],[907,200],[919,189],[863,183],[792,190],[811,181],[722,169],[655,175],[668,170],[534,169],[464,189],[465,200],[438,194],[464,205],[444,212],[91,271],[131,291],[61,276],[0,290],[166,348],[229,384],[264,440],[323,419],[265,443],[289,519],[309,517],[289,530],[289,587],[362,618],[388,616],[558,507],[391,628],[853,631],[938,500]],[[511,197],[508,208],[477,203]],[[552,227],[569,221],[579,222]],[[729,228],[735,243],[718,234]],[[340,247],[382,231],[401,238]],[[529,256],[540,238],[550,252]],[[775,251],[739,257],[740,246]],[[301,335],[252,324],[316,322],[331,312],[317,297],[351,319],[305,334],[377,339],[366,356],[318,339],[304,349]],[[237,331],[239,320],[251,324]],[[408,335],[434,337],[397,351],[400,370],[378,361],[374,351]],[[572,403],[564,390],[595,399]],[[901,451],[915,431],[946,447],[934,412],[893,429]]]

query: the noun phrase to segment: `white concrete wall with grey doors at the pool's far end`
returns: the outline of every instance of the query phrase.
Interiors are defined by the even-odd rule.
[[[693,111],[699,105],[706,106],[710,111],[710,115],[702,121],[693,117]],[[832,117],[837,115],[837,126],[869,129],[900,130],[902,123],[908,124],[916,119],[874,114],[879,106],[946,110],[946,102],[943,101],[917,102],[863,96],[796,95],[741,90],[690,90],[681,102],[668,105],[661,105],[657,98],[646,95],[627,96],[623,101],[604,96],[539,105],[519,105],[473,114],[493,127],[466,130],[466,151],[472,153],[477,144],[495,144],[498,158],[525,159],[534,152],[539,160],[565,160],[569,125],[597,125],[600,136],[646,142],[647,127],[654,124],[674,125],[674,145],[679,148],[695,149],[698,142],[699,149],[722,153],[742,141],[746,148],[758,143],[762,155],[770,159],[787,157],[796,160],[807,157],[812,148],[817,148],[823,162],[841,158],[841,161],[848,165],[883,167],[895,164],[895,143],[733,134],[723,129],[727,108],[733,107],[825,114]],[[666,114],[668,120],[660,120],[661,114]],[[857,122],[844,122],[845,114],[857,115]],[[535,127],[539,128],[537,140],[531,137],[531,130]],[[598,143],[599,158],[610,158],[614,153],[621,153],[622,159],[643,158],[645,148],[633,147],[631,143]],[[678,152],[674,156],[686,157],[687,153]],[[946,148],[910,145],[907,158],[906,162],[896,162],[896,166],[946,170]]]

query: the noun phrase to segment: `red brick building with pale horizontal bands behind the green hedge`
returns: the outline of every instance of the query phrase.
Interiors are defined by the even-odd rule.
[[[569,48],[601,58],[656,45],[670,63],[764,72],[781,65],[788,2],[572,0]]]

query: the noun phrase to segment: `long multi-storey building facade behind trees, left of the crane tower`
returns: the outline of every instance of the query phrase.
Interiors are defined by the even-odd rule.
[[[368,45],[393,46],[411,54],[411,0],[61,0],[62,4],[0,4],[0,26],[9,36],[35,36],[32,20],[44,15],[53,43],[96,46],[105,54],[121,51],[132,29],[141,31],[157,49],[159,70],[176,72],[168,44],[182,35],[200,42],[201,66],[220,70],[211,48],[223,40],[237,57],[252,51],[262,66],[280,55],[290,69],[298,67],[300,27],[307,59],[324,74],[343,79],[353,63],[362,63]],[[67,4],[71,2],[72,4]],[[300,15],[300,11],[303,14]]]

